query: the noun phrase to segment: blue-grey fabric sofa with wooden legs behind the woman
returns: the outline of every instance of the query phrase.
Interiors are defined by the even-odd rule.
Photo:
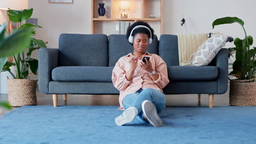
[[[177,35],[155,35],[149,53],[159,55],[167,64],[170,82],[165,94],[214,94],[228,88],[228,49],[221,49],[213,61],[202,67],[179,66]],[[125,35],[61,34],[59,49],[39,49],[39,91],[53,94],[119,94],[112,83],[112,70],[118,59],[133,52]]]

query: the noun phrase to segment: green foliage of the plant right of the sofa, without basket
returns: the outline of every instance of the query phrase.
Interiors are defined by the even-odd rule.
[[[229,75],[236,76],[239,80],[249,80],[256,77],[256,47],[250,49],[253,44],[253,37],[246,34],[245,27],[243,27],[244,22],[237,17],[223,17],[213,21],[212,27],[217,25],[222,25],[226,23],[239,23],[243,31],[245,32],[245,38],[236,38],[234,44],[236,47],[229,48],[229,57],[232,52],[236,52],[236,60],[232,65],[233,71]]]

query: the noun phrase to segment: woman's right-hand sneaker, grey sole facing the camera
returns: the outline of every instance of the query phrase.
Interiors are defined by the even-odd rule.
[[[160,127],[162,125],[162,119],[158,116],[158,112],[156,111],[156,107],[151,101],[144,100],[142,103],[142,111],[144,115],[147,117],[148,122],[154,127]]]

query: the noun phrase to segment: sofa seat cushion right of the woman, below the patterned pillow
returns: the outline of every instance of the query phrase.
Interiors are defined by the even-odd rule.
[[[214,66],[167,66],[170,81],[211,81],[217,78]]]

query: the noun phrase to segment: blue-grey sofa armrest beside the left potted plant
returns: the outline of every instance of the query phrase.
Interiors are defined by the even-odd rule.
[[[38,51],[38,88],[45,94],[49,93],[51,71],[57,67],[59,49],[40,48]]]

